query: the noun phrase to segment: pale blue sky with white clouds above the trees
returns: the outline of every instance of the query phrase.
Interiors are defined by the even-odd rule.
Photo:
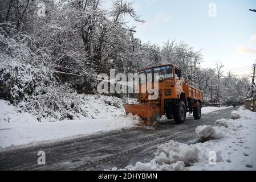
[[[216,16],[209,16],[210,3],[216,5]],[[256,60],[256,13],[249,11],[256,9],[256,0],[133,0],[133,4],[146,22],[127,20],[145,43],[182,40],[195,50],[202,49],[202,67],[221,61],[225,71]],[[250,71],[233,72],[248,75]]]

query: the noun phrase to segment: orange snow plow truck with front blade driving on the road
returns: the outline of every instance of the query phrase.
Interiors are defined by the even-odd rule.
[[[174,119],[176,123],[184,123],[186,113],[193,113],[194,119],[201,118],[201,107],[204,104],[204,94],[201,90],[189,85],[189,81],[182,84],[181,69],[175,65],[161,65],[140,69],[138,74],[144,73],[146,79],[148,74],[158,73],[156,79],[151,81],[151,89],[147,89],[147,83],[139,82],[137,86],[138,104],[124,105],[126,114],[138,115],[147,126],[158,127],[160,118],[166,115],[168,119]],[[158,82],[158,89],[155,89],[155,82]],[[152,95],[158,92],[157,97]]]

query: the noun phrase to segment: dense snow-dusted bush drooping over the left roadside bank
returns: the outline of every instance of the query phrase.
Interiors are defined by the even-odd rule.
[[[62,84],[46,68],[27,63],[2,60],[0,68],[1,97],[20,109],[42,117],[74,119],[76,114],[86,116],[81,109],[85,103],[70,85]]]

